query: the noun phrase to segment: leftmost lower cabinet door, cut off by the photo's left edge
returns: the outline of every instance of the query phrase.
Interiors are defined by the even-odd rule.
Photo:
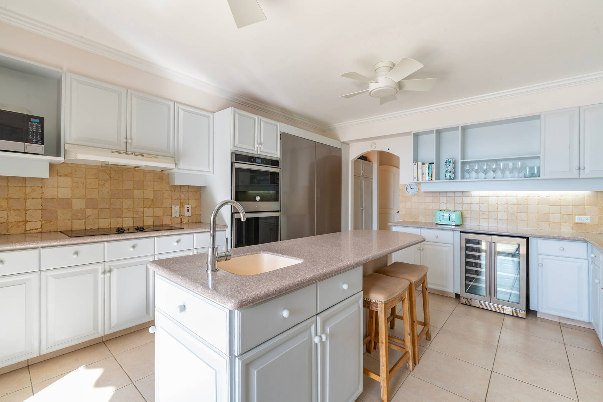
[[[40,354],[40,272],[0,277],[0,367]]]

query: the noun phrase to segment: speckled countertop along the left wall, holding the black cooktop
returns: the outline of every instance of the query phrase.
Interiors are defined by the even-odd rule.
[[[66,246],[71,244],[109,242],[112,240],[136,239],[137,237],[169,236],[171,234],[199,233],[209,231],[209,224],[199,222],[192,224],[171,224],[182,229],[162,230],[153,232],[115,233],[100,236],[69,237],[60,231],[43,233],[1,234],[0,251],[17,250],[22,248]],[[228,227],[216,225],[217,230],[226,230]]]

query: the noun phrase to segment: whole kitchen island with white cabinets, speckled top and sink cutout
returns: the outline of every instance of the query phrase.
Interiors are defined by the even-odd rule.
[[[230,261],[295,260],[256,275],[221,263],[208,273],[206,254],[148,263],[156,273],[156,400],[354,401],[362,392],[362,265],[424,240],[354,230],[233,249]]]

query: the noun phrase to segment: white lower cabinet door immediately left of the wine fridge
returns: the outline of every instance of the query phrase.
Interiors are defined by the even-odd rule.
[[[417,245],[421,250],[421,265],[429,267],[428,286],[445,292],[454,292],[454,245],[423,242]]]

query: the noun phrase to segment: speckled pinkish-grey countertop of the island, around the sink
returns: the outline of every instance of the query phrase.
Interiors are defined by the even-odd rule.
[[[207,254],[156,260],[148,267],[230,310],[239,310],[425,241],[417,234],[351,230],[232,249],[232,256],[270,253],[303,262],[257,275],[206,271]]]

